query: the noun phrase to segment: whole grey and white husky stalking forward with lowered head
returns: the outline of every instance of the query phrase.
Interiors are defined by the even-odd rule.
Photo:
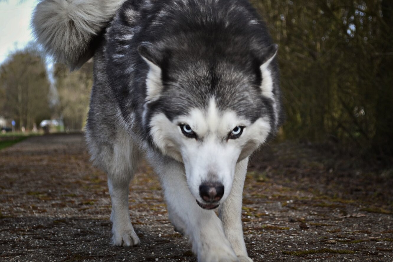
[[[94,57],[86,140],[108,174],[112,243],[140,244],[128,195],[145,157],[198,261],[252,261],[241,222],[248,157],[281,122],[277,45],[255,9],[246,0],[43,0],[33,28],[71,69]]]

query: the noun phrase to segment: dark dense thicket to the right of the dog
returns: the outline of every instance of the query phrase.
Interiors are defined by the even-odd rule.
[[[253,0],[280,46],[282,136],[393,154],[391,0]]]

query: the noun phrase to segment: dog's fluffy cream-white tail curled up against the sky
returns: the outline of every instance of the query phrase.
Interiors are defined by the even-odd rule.
[[[92,57],[90,48],[125,0],[43,0],[33,14],[39,44],[72,70]]]

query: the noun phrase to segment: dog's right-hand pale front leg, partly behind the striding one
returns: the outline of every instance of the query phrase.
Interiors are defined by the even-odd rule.
[[[243,186],[246,178],[247,163],[248,158],[237,163],[231,193],[219,208],[219,216],[224,225],[225,235],[241,262],[252,262],[252,259],[247,255],[241,220]]]

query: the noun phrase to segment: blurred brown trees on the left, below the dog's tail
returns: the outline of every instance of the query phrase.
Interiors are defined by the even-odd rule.
[[[81,131],[93,84],[93,62],[70,72],[58,63],[48,69],[42,57],[31,44],[0,66],[0,116],[15,120],[16,130],[23,126],[31,131],[44,119],[61,119],[65,130]]]

